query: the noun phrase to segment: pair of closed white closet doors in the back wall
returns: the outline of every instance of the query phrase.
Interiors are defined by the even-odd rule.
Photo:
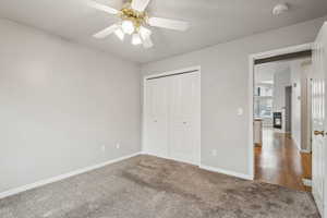
[[[144,85],[144,152],[198,165],[199,71],[147,77]]]

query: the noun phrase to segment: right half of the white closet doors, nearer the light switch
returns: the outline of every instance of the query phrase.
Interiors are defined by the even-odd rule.
[[[169,156],[199,164],[199,73],[170,77]]]

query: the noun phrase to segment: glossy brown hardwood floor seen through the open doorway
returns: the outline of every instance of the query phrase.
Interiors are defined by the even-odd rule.
[[[293,190],[311,191],[302,178],[311,179],[311,154],[300,153],[286,134],[264,129],[263,146],[255,147],[255,180]]]

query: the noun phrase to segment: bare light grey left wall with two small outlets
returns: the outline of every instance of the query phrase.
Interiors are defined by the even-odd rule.
[[[0,192],[141,150],[138,65],[5,20],[0,32]]]

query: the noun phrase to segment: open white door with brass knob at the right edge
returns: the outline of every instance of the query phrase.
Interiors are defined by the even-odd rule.
[[[325,154],[326,154],[326,25],[323,26],[313,49],[312,80],[312,164],[313,195],[322,217],[326,217],[325,202]]]

